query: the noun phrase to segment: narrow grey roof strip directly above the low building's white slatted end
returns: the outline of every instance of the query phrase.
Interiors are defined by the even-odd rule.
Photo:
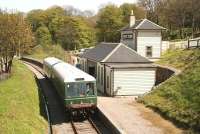
[[[113,63],[106,63],[106,66],[109,66],[111,68],[156,68],[156,65],[154,64],[113,64]]]

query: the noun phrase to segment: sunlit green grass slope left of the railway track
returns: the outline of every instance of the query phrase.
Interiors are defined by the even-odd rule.
[[[0,133],[47,133],[48,123],[40,115],[33,73],[18,60],[14,61],[12,69],[12,76],[0,82]]]

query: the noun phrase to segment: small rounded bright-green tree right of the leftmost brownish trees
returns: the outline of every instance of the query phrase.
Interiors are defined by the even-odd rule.
[[[45,46],[52,43],[51,34],[46,26],[39,27],[35,33],[35,36],[38,45]]]

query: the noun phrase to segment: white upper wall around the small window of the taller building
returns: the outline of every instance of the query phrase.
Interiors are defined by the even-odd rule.
[[[152,58],[161,56],[161,31],[140,30],[137,36],[137,52],[146,57],[146,46],[152,46]]]

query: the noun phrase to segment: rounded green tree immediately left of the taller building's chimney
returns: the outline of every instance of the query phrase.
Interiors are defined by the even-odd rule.
[[[98,41],[119,42],[122,24],[122,13],[117,6],[107,5],[100,9],[96,25]]]

